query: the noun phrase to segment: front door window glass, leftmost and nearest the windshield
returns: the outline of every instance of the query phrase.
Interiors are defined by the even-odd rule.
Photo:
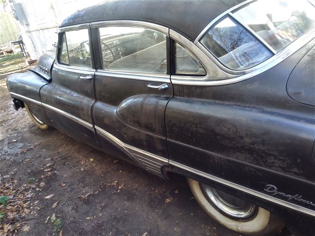
[[[92,68],[88,29],[65,32],[71,66]]]

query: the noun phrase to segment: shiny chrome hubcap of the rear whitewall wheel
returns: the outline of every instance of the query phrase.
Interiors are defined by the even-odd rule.
[[[256,206],[249,202],[205,184],[201,184],[201,187],[212,205],[231,218],[246,219],[255,213]]]

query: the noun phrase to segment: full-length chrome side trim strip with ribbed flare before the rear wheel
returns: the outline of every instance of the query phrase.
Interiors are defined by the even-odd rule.
[[[93,131],[94,131],[94,127],[95,127],[95,130],[99,132],[98,133],[99,135],[104,137],[106,140],[108,140],[112,144],[118,145],[118,147],[120,147],[121,150],[124,151],[132,160],[134,160],[136,163],[138,163],[140,167],[142,167],[143,169],[147,170],[148,172],[150,172],[152,174],[155,174],[155,175],[163,177],[163,175],[161,173],[161,167],[164,166],[164,165],[173,165],[173,166],[176,166],[176,167],[181,168],[183,170],[186,170],[188,172],[194,173],[194,174],[196,174],[198,176],[211,179],[213,181],[216,181],[216,182],[221,183],[223,185],[226,185],[228,187],[231,187],[231,188],[237,189],[239,191],[251,194],[251,195],[256,196],[258,198],[267,200],[269,202],[272,202],[272,203],[275,203],[275,204],[278,204],[278,205],[281,205],[283,207],[287,207],[287,208],[290,208],[290,209],[293,209],[293,210],[296,210],[296,211],[300,211],[300,212],[303,212],[303,213],[311,215],[311,216],[315,216],[315,210],[308,209],[306,207],[301,207],[301,206],[298,206],[298,205],[290,203],[290,202],[286,202],[284,200],[281,200],[281,199],[275,198],[273,196],[270,196],[270,195],[258,192],[256,190],[252,190],[250,188],[244,187],[244,186],[239,185],[237,183],[230,182],[230,181],[222,179],[220,177],[216,177],[216,176],[204,173],[202,171],[198,171],[196,169],[193,169],[191,167],[188,167],[186,165],[180,164],[178,162],[166,159],[164,157],[158,156],[158,155],[150,153],[148,151],[145,151],[145,150],[142,150],[142,149],[139,149],[139,148],[135,148],[133,146],[125,144],[120,139],[118,139],[114,135],[108,133],[107,131],[101,129],[100,127],[98,127],[96,125],[94,126],[93,124],[90,124],[87,121],[84,121],[84,120],[82,120],[80,118],[72,116],[71,114],[66,113],[66,112],[64,112],[64,111],[62,111],[62,110],[60,110],[58,108],[52,107],[52,106],[47,105],[45,103],[36,101],[36,100],[34,100],[32,98],[29,98],[29,97],[26,97],[26,96],[23,96],[23,95],[14,93],[14,92],[10,92],[10,94],[14,98],[21,98],[21,99],[24,99],[24,100],[27,100],[27,101],[31,101],[33,103],[36,103],[38,105],[42,105],[42,106],[44,106],[44,107],[46,107],[48,109],[51,109],[53,111],[56,111],[56,112],[60,113],[61,115],[64,115],[64,116],[66,116],[68,118],[71,118],[75,122],[78,122],[78,123],[84,125],[85,127],[93,130]]]

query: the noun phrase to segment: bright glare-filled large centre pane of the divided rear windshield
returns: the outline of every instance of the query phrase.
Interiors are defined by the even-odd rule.
[[[258,0],[233,16],[279,52],[314,27],[315,8],[306,0]]]

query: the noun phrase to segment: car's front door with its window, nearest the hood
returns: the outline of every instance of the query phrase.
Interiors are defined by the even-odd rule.
[[[52,82],[40,90],[40,97],[54,127],[99,148],[91,115],[95,67],[90,34],[88,25],[59,34]]]

